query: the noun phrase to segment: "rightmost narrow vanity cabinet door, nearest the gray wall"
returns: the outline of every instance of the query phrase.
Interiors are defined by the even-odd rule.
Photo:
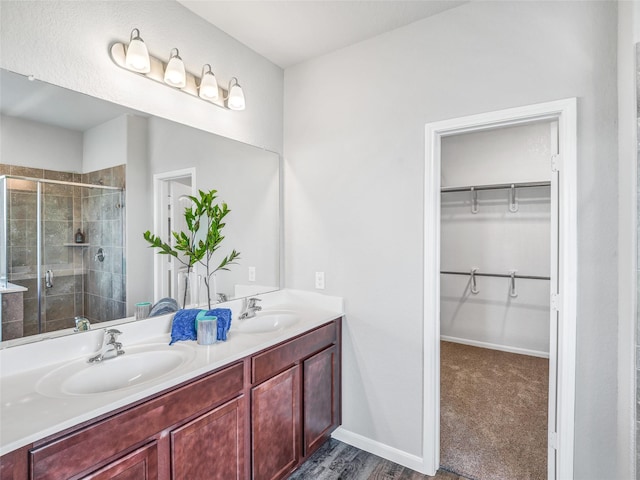
[[[336,347],[304,361],[304,454],[318,448],[338,426],[339,371]]]

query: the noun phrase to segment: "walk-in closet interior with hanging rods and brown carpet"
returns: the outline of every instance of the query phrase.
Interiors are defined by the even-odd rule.
[[[442,139],[440,466],[475,480],[548,474],[557,128]]]

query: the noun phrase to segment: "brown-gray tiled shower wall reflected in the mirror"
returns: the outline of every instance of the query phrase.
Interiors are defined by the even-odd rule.
[[[124,188],[125,166],[88,174],[1,164],[0,175],[64,180]],[[3,325],[3,340],[38,333],[36,184],[9,183],[9,281],[23,285],[24,320]],[[84,315],[92,323],[125,313],[124,210],[122,193],[68,185],[42,184],[43,269],[53,272],[53,286],[42,283],[42,331],[74,326]],[[90,246],[74,245],[80,228]],[[95,260],[98,247],[105,261]]]

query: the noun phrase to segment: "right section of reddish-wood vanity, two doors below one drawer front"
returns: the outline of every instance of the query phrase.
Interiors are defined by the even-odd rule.
[[[252,358],[252,479],[285,478],[340,425],[341,319]]]

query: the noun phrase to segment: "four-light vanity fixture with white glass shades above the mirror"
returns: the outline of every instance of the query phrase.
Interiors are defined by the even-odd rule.
[[[169,60],[149,55],[147,46],[140,38],[140,30],[131,31],[129,44],[116,42],[109,49],[111,60],[120,68],[151,79],[163,85],[200,98],[227,110],[244,110],[245,99],[236,77],[229,81],[228,89],[221,87],[208,63],[202,67],[202,77],[189,73],[177,48],[171,50]]]

